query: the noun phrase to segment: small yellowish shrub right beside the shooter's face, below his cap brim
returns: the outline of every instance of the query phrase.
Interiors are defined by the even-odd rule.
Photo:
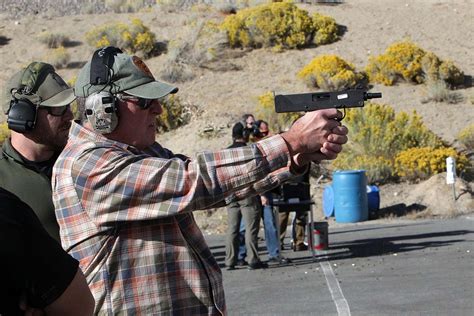
[[[156,118],[157,129],[168,132],[190,122],[198,114],[196,106],[186,104],[178,96],[169,96],[160,100],[163,113]]]

